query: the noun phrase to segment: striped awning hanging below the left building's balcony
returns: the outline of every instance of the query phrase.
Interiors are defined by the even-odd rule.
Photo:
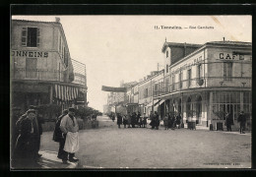
[[[63,101],[74,100],[78,97],[78,88],[55,85],[53,96]]]

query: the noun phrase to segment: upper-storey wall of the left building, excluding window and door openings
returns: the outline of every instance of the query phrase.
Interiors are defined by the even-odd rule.
[[[11,61],[12,67],[18,69],[16,71],[16,79],[25,79],[26,74],[26,58],[37,58],[36,62],[36,79],[50,81],[68,81],[69,75],[64,75],[64,62],[60,58],[58,52],[58,38],[60,35],[59,25],[54,23],[36,23],[36,22],[12,22],[11,35]],[[40,42],[37,47],[22,46],[22,29],[25,27],[36,27],[40,29]],[[64,42],[66,48],[67,43]],[[69,54],[68,54],[69,55]],[[60,72],[62,74],[58,77]],[[64,76],[66,78],[64,79]]]

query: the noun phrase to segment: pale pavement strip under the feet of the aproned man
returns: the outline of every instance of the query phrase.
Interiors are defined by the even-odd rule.
[[[57,157],[56,151],[48,151],[48,150],[42,150],[39,151],[41,155],[38,163],[41,165],[41,168],[77,168],[79,165],[79,162],[69,162],[69,164],[63,164],[62,160]]]

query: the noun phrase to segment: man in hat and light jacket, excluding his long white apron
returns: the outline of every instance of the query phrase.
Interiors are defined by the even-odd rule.
[[[62,118],[62,120],[60,122],[60,130],[63,133],[64,145],[65,145],[65,141],[66,141],[68,132],[76,133],[79,131],[78,122],[77,122],[77,119],[75,118],[75,108],[70,107],[68,114]],[[68,158],[68,156],[69,156],[69,158]],[[75,157],[75,153],[70,153],[70,152],[63,150],[62,162],[64,164],[67,164],[67,160],[69,160],[71,162],[77,162],[79,159],[77,159]]]

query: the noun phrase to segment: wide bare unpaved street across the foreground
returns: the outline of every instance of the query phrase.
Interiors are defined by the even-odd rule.
[[[103,168],[248,168],[251,136],[238,133],[118,129],[116,122],[98,117],[99,128],[80,131],[80,166]],[[52,133],[43,133],[41,149],[57,151]]]

